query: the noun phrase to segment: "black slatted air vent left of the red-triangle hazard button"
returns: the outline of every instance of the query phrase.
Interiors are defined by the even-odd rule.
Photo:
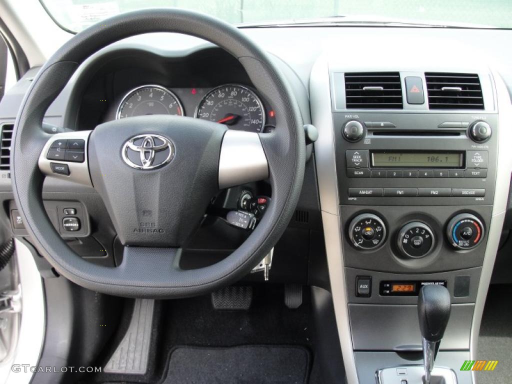
[[[347,109],[402,109],[402,86],[398,72],[352,72],[345,74]]]

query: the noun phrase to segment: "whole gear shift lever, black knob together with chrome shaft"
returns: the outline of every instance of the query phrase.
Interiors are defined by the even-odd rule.
[[[419,291],[418,318],[423,338],[425,384],[430,384],[430,374],[450,318],[451,305],[450,292],[442,285],[425,285]]]

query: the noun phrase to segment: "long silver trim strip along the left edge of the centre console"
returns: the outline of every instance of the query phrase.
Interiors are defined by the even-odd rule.
[[[331,76],[325,55],[315,62],[310,76],[311,119],[318,129],[318,140],[314,143],[318,191],[329,266],[332,301],[336,316],[339,343],[342,349],[345,373],[349,384],[357,384],[357,370],[352,347],[347,286],[345,284],[341,224],[339,221],[338,184],[334,152],[334,126],[331,110]]]

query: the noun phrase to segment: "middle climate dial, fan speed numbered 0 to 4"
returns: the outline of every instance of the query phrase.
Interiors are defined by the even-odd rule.
[[[422,258],[434,246],[434,234],[425,223],[414,221],[398,232],[398,249],[404,256]]]

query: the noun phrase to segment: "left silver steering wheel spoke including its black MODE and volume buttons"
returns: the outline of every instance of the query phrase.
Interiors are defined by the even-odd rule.
[[[39,169],[46,176],[93,186],[89,173],[88,144],[92,131],[63,132],[48,139],[39,155]]]

